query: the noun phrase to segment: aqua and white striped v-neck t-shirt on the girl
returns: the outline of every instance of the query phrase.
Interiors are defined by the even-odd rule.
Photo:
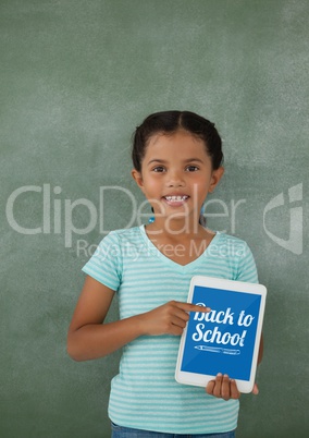
[[[191,251],[196,250],[193,244]],[[217,233],[198,258],[182,266],[152,244],[144,226],[109,233],[83,270],[118,291],[120,318],[148,312],[171,300],[186,302],[195,275],[258,281],[251,252],[239,239]],[[111,385],[111,421],[120,426],[171,434],[235,429],[238,400],[217,399],[203,388],[175,381],[178,344],[180,337],[143,336],[123,348],[120,370]]]

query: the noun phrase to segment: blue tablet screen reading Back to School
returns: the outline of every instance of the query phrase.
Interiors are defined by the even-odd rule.
[[[196,285],[191,302],[211,312],[190,313],[181,369],[249,380],[261,296]]]

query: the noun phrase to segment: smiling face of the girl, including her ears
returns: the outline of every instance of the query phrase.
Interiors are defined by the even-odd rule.
[[[132,171],[157,218],[199,219],[200,208],[223,174],[212,170],[205,143],[187,133],[150,137],[141,171]],[[156,220],[157,220],[156,218]]]

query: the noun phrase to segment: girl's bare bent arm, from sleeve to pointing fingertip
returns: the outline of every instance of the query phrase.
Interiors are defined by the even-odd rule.
[[[188,312],[209,312],[194,304],[169,302],[153,311],[104,323],[114,291],[87,277],[67,332],[67,353],[75,361],[103,357],[144,336],[180,336]]]

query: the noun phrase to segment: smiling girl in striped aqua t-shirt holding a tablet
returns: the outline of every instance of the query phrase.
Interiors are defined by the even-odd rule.
[[[136,129],[132,158],[132,175],[154,220],[111,232],[83,268],[87,277],[69,329],[69,354],[86,361],[123,349],[109,402],[113,438],[234,437],[234,380],[219,374],[205,391],[174,379],[188,313],[201,312],[186,303],[191,277],[258,281],[246,243],[199,220],[223,174],[221,138],[200,115],[159,112]],[[102,324],[115,292],[120,320]]]

